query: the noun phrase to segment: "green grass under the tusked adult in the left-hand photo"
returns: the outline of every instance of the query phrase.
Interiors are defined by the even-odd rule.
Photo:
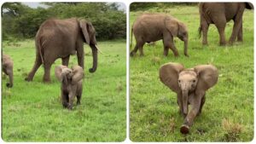
[[[68,111],[61,106],[61,84],[51,68],[51,84],[44,84],[43,67],[32,82],[24,81],[35,60],[34,40],[3,43],[3,53],[15,63],[14,87],[2,81],[3,141],[124,141],[126,137],[125,40],[99,42],[98,69],[90,73],[91,50],[86,45],[84,90],[79,107]],[[69,66],[77,65],[71,57]]]

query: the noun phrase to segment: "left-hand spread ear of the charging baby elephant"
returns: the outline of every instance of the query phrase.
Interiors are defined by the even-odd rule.
[[[178,86],[178,74],[182,72],[184,66],[178,63],[166,63],[160,67],[159,76],[160,81],[167,87],[172,89],[172,91],[179,93],[181,89]]]

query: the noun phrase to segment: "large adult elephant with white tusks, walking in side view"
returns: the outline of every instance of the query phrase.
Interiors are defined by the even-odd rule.
[[[68,66],[70,55],[77,54],[79,66],[84,68],[84,42],[92,50],[93,66],[89,71],[96,72],[96,31],[89,21],[75,18],[44,21],[36,36],[35,64],[25,80],[32,81],[38,67],[43,64],[44,82],[50,82],[50,67],[53,62],[61,58],[62,65]]]

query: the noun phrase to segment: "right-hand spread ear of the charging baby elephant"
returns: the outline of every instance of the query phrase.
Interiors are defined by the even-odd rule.
[[[198,82],[195,94],[204,93],[218,82],[218,69],[212,65],[199,65],[194,67],[197,73]]]

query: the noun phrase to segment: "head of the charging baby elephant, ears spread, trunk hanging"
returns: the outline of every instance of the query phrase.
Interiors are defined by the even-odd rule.
[[[212,65],[199,65],[184,69],[178,63],[167,63],[160,67],[160,81],[172,91],[183,95],[183,113],[188,113],[189,93],[205,94],[218,81],[218,69]]]

